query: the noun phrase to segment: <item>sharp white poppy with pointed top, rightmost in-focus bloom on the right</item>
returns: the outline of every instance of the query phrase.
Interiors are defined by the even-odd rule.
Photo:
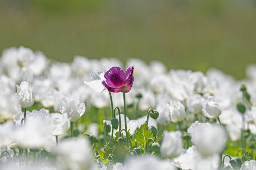
[[[207,100],[203,104],[202,108],[203,114],[208,118],[216,118],[220,115],[221,110],[220,106],[217,102],[215,102],[215,99],[213,96],[207,97]]]

